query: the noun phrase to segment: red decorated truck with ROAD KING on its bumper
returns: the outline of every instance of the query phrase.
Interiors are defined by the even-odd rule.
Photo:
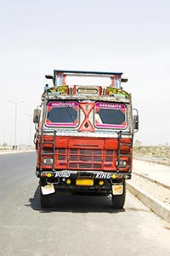
[[[133,134],[139,128],[121,72],[59,71],[34,111],[36,175],[48,208],[61,193],[110,196],[123,208],[131,179]]]

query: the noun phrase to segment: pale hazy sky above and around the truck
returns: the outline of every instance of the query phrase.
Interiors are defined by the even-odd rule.
[[[169,0],[0,0],[0,144],[30,141],[30,116],[54,69],[122,71],[144,145],[170,143]],[[27,115],[26,115],[27,114]],[[34,128],[32,124],[31,135]]]

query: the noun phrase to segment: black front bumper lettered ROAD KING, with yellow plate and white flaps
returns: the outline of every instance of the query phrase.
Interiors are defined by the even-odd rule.
[[[104,172],[42,172],[42,195],[59,191],[94,192],[96,194],[122,195],[125,174]]]

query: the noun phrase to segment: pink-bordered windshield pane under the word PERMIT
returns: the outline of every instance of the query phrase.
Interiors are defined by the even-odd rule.
[[[126,128],[126,105],[119,103],[97,102],[95,104],[96,128]]]

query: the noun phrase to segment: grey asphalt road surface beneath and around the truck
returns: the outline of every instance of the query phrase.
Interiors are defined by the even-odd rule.
[[[121,211],[105,196],[42,209],[35,163],[34,152],[0,156],[0,255],[170,255],[169,225],[128,192]]]

